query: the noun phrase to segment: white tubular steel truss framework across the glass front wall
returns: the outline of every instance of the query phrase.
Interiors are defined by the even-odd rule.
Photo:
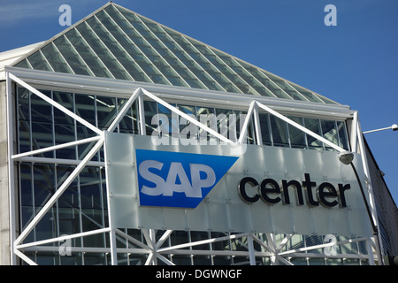
[[[69,115],[73,119],[76,119],[79,121],[82,125],[87,126],[91,130],[93,130],[97,136],[88,138],[88,139],[83,139],[80,141],[76,142],[67,142],[65,144],[57,145],[57,146],[51,146],[46,149],[37,149],[21,154],[13,154],[14,149],[12,146],[12,137],[14,136],[13,133],[13,128],[12,128],[12,123],[14,121],[13,117],[13,111],[12,111],[12,97],[11,97],[11,81],[16,82],[20,86],[27,88],[30,90],[34,95],[41,97],[44,99],[46,102],[50,103],[60,111],[63,111],[65,114]],[[48,86],[51,84],[48,84]],[[160,103],[164,105],[166,108],[168,108],[170,111],[175,112],[177,115],[180,115],[181,117],[187,119],[191,123],[195,124],[196,126],[199,126],[202,128],[204,131],[207,131],[208,133],[214,135],[217,137],[220,141],[227,142],[227,143],[235,143],[232,142],[231,140],[227,139],[225,136],[218,134],[218,132],[214,131],[208,126],[204,126],[197,120],[191,118],[187,114],[183,113],[182,111],[178,110],[177,108],[173,107],[170,103],[166,103],[165,100],[159,98],[159,96],[155,96],[153,93],[149,92],[148,90],[144,88],[135,88],[134,93],[129,97],[128,101],[125,103],[123,106],[122,110],[119,112],[117,117],[112,121],[111,126],[108,127],[107,130],[101,131],[98,129],[96,126],[91,125],[88,123],[86,120],[81,119],[79,116],[74,114],[72,111],[67,110],[65,107],[60,105],[59,103],[56,103],[52,99],[50,99],[47,96],[44,96],[40,91],[38,91],[36,88],[33,88],[30,86],[25,80],[19,79],[16,75],[6,72],[6,93],[7,93],[7,131],[8,131],[8,136],[10,139],[10,142],[8,142],[8,152],[9,152],[9,187],[10,187],[10,213],[11,213],[11,219],[10,219],[10,226],[11,226],[11,264],[17,264],[17,259],[16,256],[19,256],[20,259],[25,261],[27,264],[36,264],[33,260],[31,260],[28,256],[26,256],[23,251],[27,250],[51,250],[51,251],[57,251],[57,247],[54,246],[41,246],[45,244],[49,244],[52,242],[57,242],[57,241],[65,241],[67,239],[73,239],[73,238],[78,238],[78,237],[84,237],[87,235],[92,235],[96,233],[110,233],[110,240],[111,240],[111,247],[110,248],[79,248],[79,247],[71,247],[70,250],[73,252],[85,252],[85,251],[90,251],[90,252],[99,252],[99,253],[107,253],[111,255],[111,264],[118,264],[118,254],[119,253],[125,253],[125,254],[146,254],[148,255],[147,260],[145,264],[157,264],[157,260],[163,261],[165,264],[173,264],[169,259],[165,257],[165,255],[211,255],[211,256],[217,256],[217,255],[223,255],[223,256],[249,256],[249,264],[256,264],[256,256],[270,256],[271,258],[271,263],[272,264],[289,264],[291,265],[292,263],[288,261],[289,258],[291,257],[306,257],[306,258],[311,258],[311,257],[324,257],[324,258],[356,258],[356,259],[361,259],[361,260],[368,260],[369,264],[375,264],[374,259],[379,258],[379,264],[381,263],[381,257],[380,254],[382,254],[382,251],[379,250],[379,245],[376,245],[373,241],[372,238],[357,238],[353,240],[348,240],[348,241],[339,241],[339,242],[328,242],[316,246],[311,246],[311,247],[306,247],[302,249],[290,249],[290,250],[284,250],[284,248],[287,247],[287,242],[294,236],[293,234],[287,234],[283,237],[281,241],[277,240],[277,237],[273,233],[266,233],[266,240],[268,244],[264,243],[264,240],[259,239],[255,233],[239,233],[239,234],[229,234],[223,237],[218,237],[218,238],[212,238],[212,239],[207,239],[203,241],[194,241],[194,242],[188,242],[185,244],[180,244],[172,247],[163,247],[163,244],[165,241],[168,239],[168,237],[172,234],[172,230],[166,230],[161,238],[156,241],[155,239],[155,234],[156,231],[153,229],[142,229],[142,234],[146,240],[146,243],[142,241],[137,241],[130,235],[126,234],[125,232],[119,230],[117,227],[112,226],[111,223],[111,211],[108,211],[108,216],[109,216],[109,227],[105,227],[102,229],[97,229],[94,231],[90,232],[85,232],[85,233],[75,233],[71,235],[63,235],[61,237],[56,237],[44,241],[34,241],[34,242],[29,242],[29,243],[22,243],[26,237],[27,234],[32,231],[35,225],[40,221],[40,219],[44,216],[44,214],[50,210],[52,205],[57,201],[58,197],[63,194],[65,189],[72,183],[72,181],[78,176],[80,171],[89,164],[91,157],[93,157],[98,149],[101,147],[106,147],[106,132],[111,133],[115,129],[116,126],[119,125],[119,122],[121,119],[124,118],[126,115],[126,111],[131,107],[131,105],[134,103],[134,101],[138,101],[138,107],[139,107],[139,122],[140,122],[140,133],[145,134],[145,116],[144,116],[144,109],[143,109],[143,96],[148,96],[150,99],[156,101],[157,103]],[[130,88],[131,89],[131,88]],[[98,89],[97,89],[98,90]],[[106,89],[101,88],[102,91],[106,92]],[[178,97],[178,96],[177,96]],[[247,99],[247,98],[246,98]],[[325,107],[325,106],[323,106]],[[264,105],[264,103],[259,102],[257,97],[256,99],[253,99],[251,103],[249,103],[249,111],[246,120],[244,121],[243,124],[243,129],[241,133],[241,138],[237,143],[242,143],[244,142],[242,140],[242,137],[245,136],[245,131],[247,131],[248,126],[249,126],[249,119],[253,115],[254,117],[254,125],[255,125],[255,133],[256,133],[256,144],[262,145],[261,141],[261,133],[260,133],[260,126],[259,126],[259,119],[258,119],[258,108],[261,108],[262,110],[278,117],[279,119],[282,119],[286,121],[288,124],[295,126],[296,128],[302,130],[302,132],[306,134],[310,134],[311,136],[315,137],[321,142],[324,142],[328,146],[332,147],[333,149],[336,149],[339,152],[345,151],[345,149],[341,149],[341,147],[335,145],[333,142],[327,141],[325,138],[322,136],[319,136],[318,134],[315,134],[311,132],[309,129],[295,123],[291,119],[287,119],[286,116],[281,115],[278,111],[275,111],[272,109],[272,107]],[[377,217],[375,217],[376,211],[375,211],[375,205],[374,205],[374,199],[372,195],[372,190],[371,190],[371,181],[369,178],[369,169],[367,166],[367,157],[365,154],[364,150],[364,140],[359,124],[359,120],[357,118],[357,113],[354,112],[354,117],[352,121],[352,129],[351,129],[351,150],[353,152],[356,152],[357,149],[359,148],[359,152],[361,153],[362,157],[362,162],[364,164],[364,172],[366,176],[366,184],[368,188],[368,196],[370,199],[370,204],[371,204],[371,213],[374,218],[375,223],[377,223]],[[16,231],[17,231],[17,219],[15,215],[15,211],[17,210],[16,203],[14,200],[14,195],[15,195],[15,183],[14,183],[14,172],[13,172],[13,164],[14,161],[29,161],[31,157],[35,154],[54,150],[54,149],[62,149],[65,147],[81,144],[81,143],[86,143],[86,142],[96,142],[96,145],[87,153],[86,157],[84,157],[80,163],[77,165],[77,167],[74,169],[74,171],[71,173],[71,175],[65,180],[65,182],[62,184],[61,187],[57,189],[57,192],[50,197],[48,202],[44,205],[42,210],[40,210],[37,215],[34,216],[32,221],[27,225],[27,227],[21,231],[18,235],[16,236]],[[106,152],[106,151],[105,151]],[[106,157],[105,157],[106,160]],[[106,169],[106,162],[105,162],[105,174],[107,174],[107,169]],[[107,184],[107,194],[108,194],[108,184]],[[108,201],[111,197],[111,195],[107,195]],[[108,203],[109,204],[109,203]],[[108,206],[109,207],[109,206]],[[116,237],[117,235],[119,237],[122,237],[126,239],[126,241],[129,241],[133,243],[134,245],[138,246],[138,249],[120,249],[117,248],[116,246]],[[201,245],[203,243],[212,243],[216,241],[226,241],[226,240],[240,240],[242,242],[245,242],[245,245],[248,248],[248,251],[219,251],[219,250],[195,250],[195,249],[184,249],[187,247],[194,247],[196,245]],[[366,255],[361,255],[361,254],[337,254],[335,256],[327,256],[322,253],[309,253],[307,251],[311,249],[324,249],[326,247],[330,247],[333,245],[344,245],[347,243],[351,242],[358,242],[358,241],[366,241],[366,246],[367,246],[367,251],[368,254]],[[262,249],[266,251],[257,251],[254,249],[253,243],[256,242],[258,243]],[[381,243],[380,243],[381,244]],[[39,247],[40,246],[40,247]],[[376,256],[373,255],[372,248],[376,250]],[[382,249],[382,247],[381,247]],[[305,253],[302,253],[305,252]]]

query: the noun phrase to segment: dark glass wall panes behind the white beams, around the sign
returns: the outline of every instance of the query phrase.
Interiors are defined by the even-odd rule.
[[[65,108],[86,119],[100,129],[106,129],[120,111],[125,98],[118,96],[97,96],[95,94],[80,94],[41,90]],[[49,103],[26,88],[17,88],[18,103],[18,148],[19,153],[34,149],[44,149],[49,146],[73,142],[93,136],[87,127],[79,125],[62,111],[58,111]],[[135,102],[121,120],[116,132],[124,134],[142,134],[139,131],[138,103]],[[210,107],[209,105],[186,105],[173,103],[180,111],[201,120],[215,129],[219,134],[235,140],[240,137],[242,120],[246,118],[245,110],[228,110]],[[165,128],[167,138],[179,137],[184,134],[187,121],[172,115],[162,104],[144,101],[145,133],[159,134],[159,125]],[[241,116],[244,115],[244,116]],[[326,147],[322,142],[314,141],[308,134],[302,133],[286,122],[264,112],[259,112],[259,125],[263,146],[290,147],[295,149],[334,150]],[[209,119],[210,118],[210,119]],[[334,142],[344,149],[348,149],[348,135],[344,121],[313,119],[288,116],[302,126],[314,130],[328,141]],[[162,121],[160,119],[163,119]],[[203,121],[203,120],[202,120]],[[250,120],[247,142],[255,143],[255,126]],[[219,142],[209,134],[199,130],[189,132],[188,138],[200,141],[201,137],[209,142]],[[19,162],[19,215],[20,229],[23,230],[38,210],[42,208],[50,196],[54,195],[63,181],[73,172],[82,157],[88,152],[92,144],[74,145],[70,148],[57,149],[35,157],[27,157]],[[79,176],[73,180],[57,203],[46,213],[34,230],[27,236],[25,242],[41,241],[59,237],[65,234],[84,233],[109,226],[108,208],[106,202],[105,169],[103,164],[103,150],[99,150]],[[121,229],[132,239],[144,241],[142,230]],[[166,231],[155,231],[155,238],[159,241]],[[172,264],[249,264],[248,237],[233,239],[233,233],[226,232],[195,232],[173,231],[163,243],[165,261]],[[276,235],[276,241],[281,243],[286,235]],[[256,238],[266,245],[269,241],[264,233],[256,233]],[[213,239],[214,241],[206,242]],[[347,240],[338,237],[338,241]],[[204,242],[203,242],[204,241]],[[330,259],[322,255],[321,249],[307,249],[325,242],[325,236],[293,235],[284,242],[282,251],[305,248],[302,256],[293,256],[287,260],[292,264],[368,264],[367,259]],[[37,264],[110,264],[109,252],[101,249],[110,248],[108,233],[99,233],[86,237],[72,239],[67,243],[73,247],[68,256],[63,256],[58,249],[62,242],[53,242],[52,249],[32,249],[25,254]],[[178,253],[167,253],[167,247],[187,245],[179,249]],[[264,245],[254,242],[256,250],[256,264],[272,264],[271,256],[267,254]],[[140,247],[126,238],[117,238],[117,247],[123,249],[137,249],[136,253],[118,252],[119,264],[145,264],[148,252],[140,251]],[[364,242],[351,242],[338,246],[340,253],[352,254],[354,257],[365,255]],[[96,251],[92,251],[96,249]],[[344,249],[344,250],[342,250]],[[308,255],[308,256],[306,256]],[[157,259],[157,264],[165,264]],[[284,264],[281,262],[280,264]]]

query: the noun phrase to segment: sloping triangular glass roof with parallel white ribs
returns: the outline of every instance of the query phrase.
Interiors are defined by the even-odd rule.
[[[337,104],[113,3],[43,44],[15,66]]]

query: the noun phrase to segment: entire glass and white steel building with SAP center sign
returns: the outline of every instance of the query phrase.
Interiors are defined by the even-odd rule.
[[[386,264],[357,111],[108,3],[0,53],[0,264]]]

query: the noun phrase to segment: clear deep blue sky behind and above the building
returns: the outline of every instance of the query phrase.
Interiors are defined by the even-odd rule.
[[[117,4],[359,111],[364,131],[398,124],[397,0],[119,0]],[[107,1],[2,0],[0,52],[61,32]],[[326,4],[337,26],[326,27]],[[365,134],[398,203],[398,132]]]

